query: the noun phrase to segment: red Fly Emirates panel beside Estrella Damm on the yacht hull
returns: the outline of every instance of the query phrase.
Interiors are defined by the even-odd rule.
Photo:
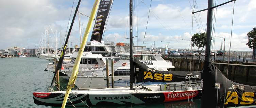
[[[197,94],[198,94],[198,91],[164,92],[164,95],[165,95],[164,102],[190,99],[192,97],[197,96]]]

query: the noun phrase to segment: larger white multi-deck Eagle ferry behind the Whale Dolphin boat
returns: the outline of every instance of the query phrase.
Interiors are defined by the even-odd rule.
[[[142,49],[140,46],[134,48]],[[108,58],[109,60],[113,58],[116,62],[120,60],[120,57],[117,54],[126,52],[129,52],[129,46],[125,46],[124,44],[117,43],[117,45],[114,45],[114,43],[111,42],[105,44],[104,41],[90,41],[87,43],[83,52],[82,59],[79,65],[79,72],[98,70],[106,64],[106,58]],[[78,52],[74,52],[71,55],[71,61],[66,61],[66,63],[63,63],[62,70],[59,71],[61,78],[69,79],[68,76],[63,72],[70,72],[73,70],[77,54]],[[54,64],[49,63],[46,70],[55,72]]]

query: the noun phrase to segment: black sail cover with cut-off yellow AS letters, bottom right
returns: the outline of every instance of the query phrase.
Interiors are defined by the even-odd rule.
[[[209,64],[207,71],[209,72],[207,75],[212,76],[203,78],[208,78],[208,80],[212,81],[208,81],[209,83],[206,86],[203,85],[203,87],[207,87],[207,90],[205,92],[203,91],[203,96],[207,97],[207,100],[203,100],[202,97],[202,102],[206,102],[207,104],[206,106],[202,106],[202,108],[218,108],[218,105],[219,108],[223,108],[223,106],[227,108],[256,105],[256,86],[239,84],[227,79],[212,63]],[[206,74],[203,74],[203,76],[206,76]],[[217,89],[218,84],[219,89]],[[212,96],[212,94],[215,96]],[[209,98],[215,99],[211,100]],[[215,103],[215,107],[209,107],[209,105],[213,105],[212,103]]]

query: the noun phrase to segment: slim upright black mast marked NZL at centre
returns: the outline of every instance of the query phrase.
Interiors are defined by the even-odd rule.
[[[131,82],[131,79],[133,79],[132,77],[134,77],[133,73],[134,73],[134,62],[131,62],[132,59],[133,59],[133,0],[130,0],[130,3],[129,3],[129,21],[130,21],[130,90],[133,89],[133,83]]]

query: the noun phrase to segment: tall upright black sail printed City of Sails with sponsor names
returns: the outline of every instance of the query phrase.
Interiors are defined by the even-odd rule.
[[[98,42],[101,42],[105,22],[106,22],[110,7],[112,5],[112,1],[113,0],[100,1],[100,6],[97,12],[95,24],[94,24],[92,35],[91,35],[91,41],[96,40]]]

